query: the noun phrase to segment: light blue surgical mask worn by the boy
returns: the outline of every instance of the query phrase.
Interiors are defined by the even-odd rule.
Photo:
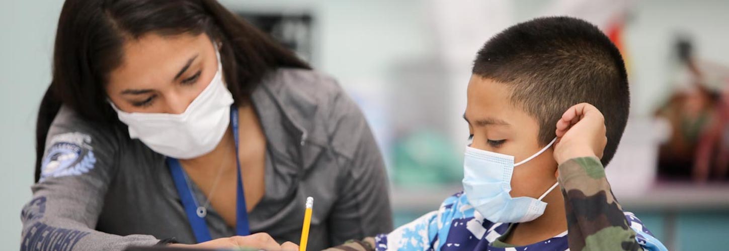
[[[468,202],[492,223],[521,223],[539,218],[547,207],[542,199],[558,183],[549,188],[539,199],[531,197],[512,198],[511,176],[514,167],[529,162],[547,151],[557,140],[552,140],[537,154],[514,164],[514,156],[466,147],[464,159],[463,188]]]

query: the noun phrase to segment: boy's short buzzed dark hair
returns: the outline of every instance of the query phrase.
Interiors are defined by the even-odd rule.
[[[607,127],[602,164],[615,155],[628,121],[628,76],[620,51],[595,25],[573,17],[513,25],[480,49],[472,73],[510,87],[512,104],[537,119],[542,146],[567,108],[595,105]]]

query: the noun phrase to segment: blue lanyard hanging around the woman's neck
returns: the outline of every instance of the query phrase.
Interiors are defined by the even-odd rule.
[[[238,173],[238,188],[236,191],[237,202],[236,202],[236,217],[235,217],[235,234],[238,236],[246,236],[251,234],[248,224],[248,212],[246,212],[246,197],[243,194],[243,180],[241,180],[241,161],[238,159],[238,108],[235,105],[230,106],[230,124],[233,126],[233,138],[235,138],[235,166]],[[187,186],[187,179],[185,178],[184,170],[177,159],[168,157],[167,165],[170,168],[172,180],[177,188],[177,194],[180,196],[182,205],[184,206],[185,214],[187,214],[187,220],[190,221],[192,227],[192,234],[195,234],[195,239],[200,242],[207,242],[211,240],[210,230],[208,230],[208,224],[205,222],[205,218],[198,217],[198,205],[195,204],[193,199],[192,191]]]

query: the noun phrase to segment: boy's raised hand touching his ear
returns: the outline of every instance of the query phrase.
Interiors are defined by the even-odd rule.
[[[595,106],[573,105],[557,121],[554,159],[562,164],[569,159],[596,156],[602,158],[607,144],[605,119]]]

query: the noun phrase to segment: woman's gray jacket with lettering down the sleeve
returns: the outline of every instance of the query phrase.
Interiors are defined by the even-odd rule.
[[[265,195],[249,212],[252,233],[298,243],[306,196],[316,199],[309,250],[392,230],[382,156],[362,112],[335,80],[280,69],[254,91],[252,103],[268,148]],[[165,156],[70,108],[51,125],[42,178],[32,190],[21,213],[21,250],[123,250],[171,237],[195,243]],[[212,208],[206,222],[213,239],[235,235]]]

